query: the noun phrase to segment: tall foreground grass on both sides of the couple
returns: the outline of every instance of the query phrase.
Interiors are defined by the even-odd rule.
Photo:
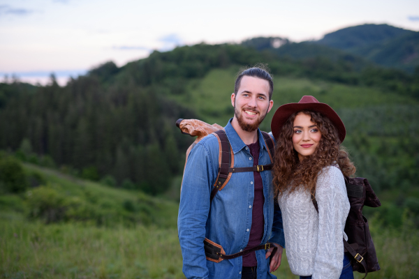
[[[1,213],[0,227],[0,278],[184,278],[175,228],[44,225],[15,213]],[[381,271],[368,278],[418,278],[419,234],[409,220],[371,227]],[[297,278],[286,255],[274,274]]]

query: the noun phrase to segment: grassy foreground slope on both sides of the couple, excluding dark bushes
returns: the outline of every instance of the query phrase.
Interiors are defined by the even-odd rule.
[[[101,224],[69,219],[45,225],[45,219],[30,215],[31,197],[45,186],[1,195],[0,278],[184,278],[176,229],[177,203],[34,165],[26,164],[24,170],[42,176],[47,188],[59,195],[89,197],[89,204],[106,204],[121,219]],[[124,221],[122,211],[127,210],[127,200],[147,209],[149,223]],[[141,211],[133,214],[134,219],[141,220]],[[415,278],[419,272],[419,234],[411,220],[404,215],[397,229],[384,227],[377,218],[369,221],[382,269],[370,273],[369,278]],[[286,255],[274,274],[297,278]],[[362,276],[355,273],[355,278]]]

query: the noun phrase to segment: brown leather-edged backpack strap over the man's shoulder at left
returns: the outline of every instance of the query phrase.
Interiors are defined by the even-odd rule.
[[[230,180],[231,174],[233,174],[232,172],[228,172],[228,169],[234,167],[234,154],[230,142],[228,141],[226,131],[217,130],[212,134],[215,135],[219,142],[219,173],[216,176],[214,189],[212,189],[211,192],[210,202],[214,199],[217,191],[220,191],[226,186]]]

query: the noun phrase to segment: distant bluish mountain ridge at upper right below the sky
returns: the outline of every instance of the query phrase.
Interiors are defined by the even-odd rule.
[[[378,64],[413,73],[419,67],[419,32],[388,24],[347,27],[315,41],[293,43],[281,37],[258,37],[244,40],[242,45],[293,59],[351,61],[358,69]]]

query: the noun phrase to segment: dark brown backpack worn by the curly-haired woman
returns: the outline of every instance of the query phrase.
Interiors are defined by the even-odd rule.
[[[381,206],[381,202],[372,190],[368,180],[363,177],[351,178],[345,176],[345,185],[351,209],[346,218],[344,229],[348,236],[348,241],[344,239],[344,248],[345,252],[349,252],[353,257],[351,260],[353,271],[365,273],[365,278],[368,272],[380,270],[380,266],[369,233],[368,220],[362,215],[362,208],[364,205],[378,207]],[[316,197],[313,194],[311,194],[311,201],[318,212]]]

